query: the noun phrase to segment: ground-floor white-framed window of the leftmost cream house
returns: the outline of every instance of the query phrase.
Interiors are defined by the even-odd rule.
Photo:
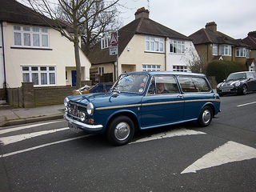
[[[55,66],[22,66],[22,82],[34,82],[34,86],[55,86]]]

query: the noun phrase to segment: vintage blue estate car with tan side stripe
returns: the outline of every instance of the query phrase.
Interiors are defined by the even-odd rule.
[[[66,97],[64,105],[70,129],[106,133],[122,146],[136,130],[190,121],[209,126],[220,98],[204,74],[142,71],[121,74],[110,92]]]

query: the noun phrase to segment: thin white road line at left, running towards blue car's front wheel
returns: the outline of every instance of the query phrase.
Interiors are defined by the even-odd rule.
[[[2,154],[0,156],[0,158],[6,158],[6,157],[14,155],[14,154],[21,154],[21,153],[24,153],[24,152],[27,152],[27,151],[30,151],[30,150],[37,150],[37,149],[45,147],[45,146],[51,146],[51,145],[59,144],[59,143],[62,143],[62,142],[70,142],[70,141],[73,141],[73,140],[76,140],[76,139],[79,139],[79,138],[86,138],[86,137],[89,137],[89,136],[92,136],[92,135],[93,134],[86,134],[86,135],[82,135],[82,136],[79,136],[79,137],[76,137],[76,138],[67,138],[67,139],[64,139],[64,140],[61,140],[61,141],[58,141],[58,142],[46,143],[46,144],[41,145],[41,146],[33,146],[33,147],[30,147],[26,150],[17,150],[17,151],[11,152],[9,154]]]

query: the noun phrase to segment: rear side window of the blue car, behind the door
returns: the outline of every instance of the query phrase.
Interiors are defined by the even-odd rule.
[[[178,82],[182,87],[182,92],[210,92],[211,88],[205,78],[179,76]]]

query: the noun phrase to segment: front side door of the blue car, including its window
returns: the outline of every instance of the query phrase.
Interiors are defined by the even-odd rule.
[[[157,85],[163,83],[165,90],[158,93]],[[148,94],[142,98],[142,129],[165,126],[183,119],[184,100],[172,75],[157,75],[152,78]]]

